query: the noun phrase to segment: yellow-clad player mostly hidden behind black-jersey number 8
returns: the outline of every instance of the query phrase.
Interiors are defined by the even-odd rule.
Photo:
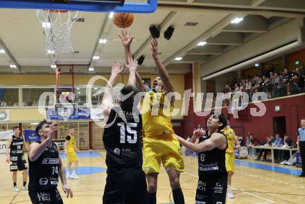
[[[223,130],[223,133],[227,136],[227,150],[225,151],[225,168],[227,169],[227,196],[234,198],[234,194],[231,189],[232,176],[234,174],[234,144],[238,148],[241,147],[234,130],[229,126],[229,120],[227,120],[227,127]]]

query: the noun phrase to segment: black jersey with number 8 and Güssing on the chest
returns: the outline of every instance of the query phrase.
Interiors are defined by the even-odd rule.
[[[225,134],[218,131],[218,133]],[[207,133],[208,134],[208,133]],[[199,142],[203,142],[211,138],[211,136],[202,136]],[[227,137],[225,136],[227,139]],[[209,151],[202,151],[198,154],[198,175],[201,176],[227,176],[225,168],[225,149],[215,147]]]

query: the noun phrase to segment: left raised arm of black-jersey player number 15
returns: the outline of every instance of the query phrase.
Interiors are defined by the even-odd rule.
[[[123,70],[123,68],[121,67],[121,62],[117,62],[117,61],[114,62],[114,64],[112,65],[111,76],[106,84],[105,93],[104,93],[103,100],[102,100],[102,105],[104,106],[103,113],[104,113],[105,122],[107,122],[110,111],[113,106],[112,91],[113,91],[114,81],[115,81],[116,77],[119,75],[119,73],[122,72],[122,70]]]

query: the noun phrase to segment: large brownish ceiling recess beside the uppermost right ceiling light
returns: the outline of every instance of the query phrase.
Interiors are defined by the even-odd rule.
[[[239,24],[230,24],[223,29],[224,32],[240,32],[240,33],[267,33],[268,21],[261,16],[247,16]]]

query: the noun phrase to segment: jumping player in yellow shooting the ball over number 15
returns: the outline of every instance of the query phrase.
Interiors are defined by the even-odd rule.
[[[128,30],[122,31],[123,46],[125,48],[126,63],[132,57],[130,44],[132,37]],[[143,138],[144,171],[148,182],[148,203],[157,202],[157,178],[161,162],[167,171],[173,189],[175,204],[184,204],[184,196],[180,187],[180,172],[184,171],[182,149],[174,136],[171,116],[175,98],[167,98],[166,94],[174,91],[168,73],[158,58],[157,39],[151,41],[153,59],[157,65],[159,77],[153,82],[153,90],[141,84],[141,77],[137,73],[137,84],[141,90],[148,91],[142,102],[142,122],[145,133]]]

